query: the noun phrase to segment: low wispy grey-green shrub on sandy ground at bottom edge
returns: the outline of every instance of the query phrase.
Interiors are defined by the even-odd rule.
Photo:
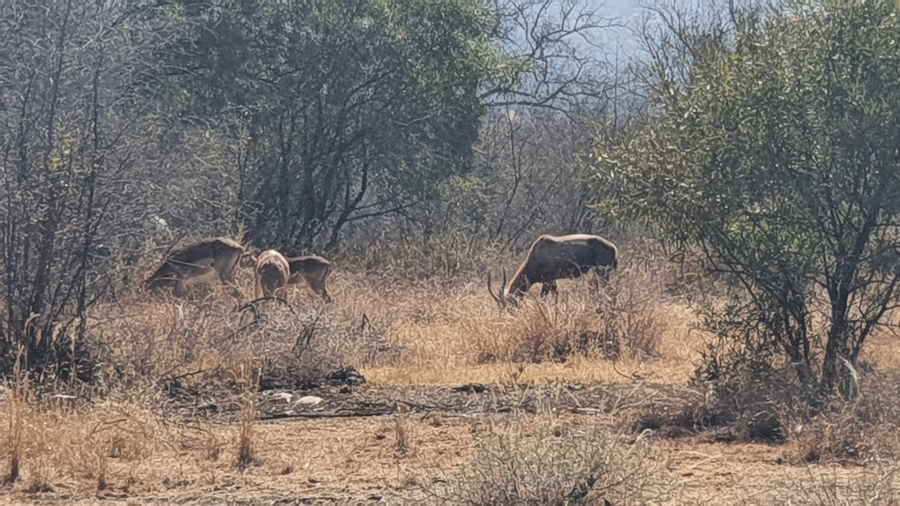
[[[547,415],[512,418],[481,436],[471,464],[431,494],[449,504],[645,504],[666,496],[663,469],[643,437]]]

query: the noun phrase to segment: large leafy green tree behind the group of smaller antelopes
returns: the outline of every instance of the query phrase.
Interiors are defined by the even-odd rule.
[[[471,165],[479,93],[524,68],[477,0],[182,0],[169,56],[187,116],[231,125],[251,240],[339,244]],[[502,84],[502,86],[501,86]]]

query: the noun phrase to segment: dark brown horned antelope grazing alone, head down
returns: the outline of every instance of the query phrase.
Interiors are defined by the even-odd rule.
[[[556,280],[578,278],[589,270],[598,277],[608,279],[609,270],[619,264],[618,251],[612,242],[587,234],[563,236],[542,235],[534,241],[528,256],[515,276],[506,284],[506,269],[503,270],[503,287],[494,293],[491,273],[488,272],[488,291],[501,306],[521,299],[534,283],[541,283],[541,297],[548,293],[558,293]],[[597,288],[597,283],[593,284]]]

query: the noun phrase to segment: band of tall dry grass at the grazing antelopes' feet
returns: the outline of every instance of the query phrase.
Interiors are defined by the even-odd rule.
[[[538,381],[618,381],[617,368],[656,368],[687,378],[698,349],[690,311],[667,293],[667,275],[624,261],[593,293],[592,274],[559,283],[558,297],[531,290],[500,310],[484,284],[487,268],[418,276],[395,260],[383,272],[344,270],[329,280],[335,303],[305,286],[243,306],[220,287],[196,300],[133,294],[91,315],[107,385],[155,383],[205,388],[231,383],[252,342],[263,388],[299,387],[352,366],[395,384],[506,382],[527,366]],[[239,273],[252,293],[250,270]],[[655,364],[655,365],[654,365]],[[274,381],[276,380],[277,381]]]

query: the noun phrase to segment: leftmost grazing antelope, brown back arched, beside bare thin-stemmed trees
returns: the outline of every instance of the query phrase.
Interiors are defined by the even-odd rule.
[[[201,239],[169,254],[144,281],[144,288],[174,288],[175,295],[185,297],[189,286],[218,277],[237,298],[242,298],[234,272],[243,256],[243,246],[227,237]]]

